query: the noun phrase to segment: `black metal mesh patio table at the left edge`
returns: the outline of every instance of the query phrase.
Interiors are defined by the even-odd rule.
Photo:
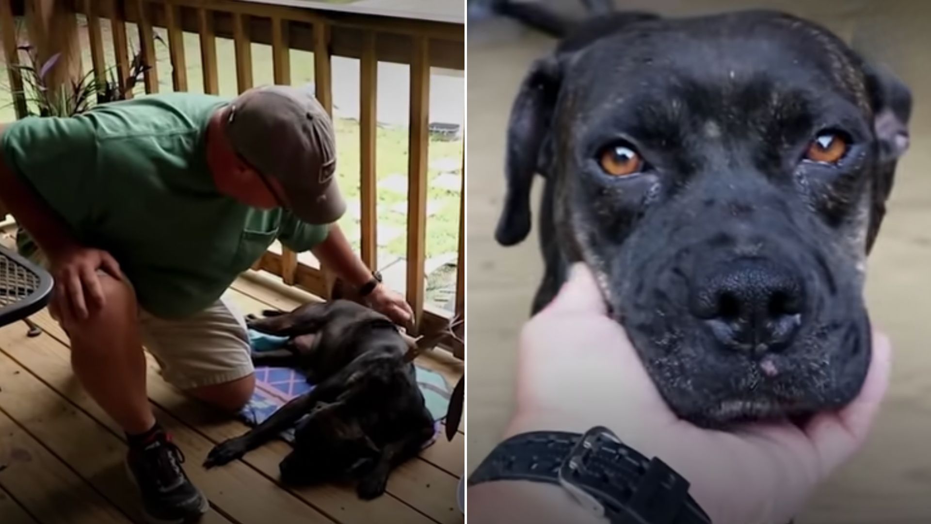
[[[45,308],[52,291],[52,277],[12,250],[0,245],[0,326],[25,321],[30,337],[42,331],[29,320]]]

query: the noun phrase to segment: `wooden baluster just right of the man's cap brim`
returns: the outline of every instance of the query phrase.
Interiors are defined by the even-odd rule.
[[[365,35],[362,60],[359,62],[359,166],[362,199],[362,261],[371,269],[378,268],[378,198],[375,162],[375,138],[378,100],[378,58],[375,56],[375,33]]]

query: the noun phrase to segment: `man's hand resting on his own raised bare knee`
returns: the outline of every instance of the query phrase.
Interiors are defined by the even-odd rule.
[[[51,309],[66,319],[86,320],[101,310],[105,298],[98,269],[121,279],[119,264],[100,249],[77,247],[50,256],[55,278]]]

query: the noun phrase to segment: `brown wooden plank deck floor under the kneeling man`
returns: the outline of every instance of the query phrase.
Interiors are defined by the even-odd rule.
[[[288,309],[290,296],[246,279],[229,291],[244,313]],[[22,323],[0,328],[0,522],[104,524],[142,522],[138,495],[128,481],[122,431],[97,407],[72,374],[68,339],[47,310],[33,320],[46,332],[26,337]],[[442,373],[451,387],[462,365],[442,354],[418,364]],[[459,523],[456,488],[465,465],[464,436],[441,436],[399,467],[387,493],[371,502],[351,488],[285,489],[277,464],[289,446],[276,441],[243,461],[205,470],[214,444],[246,426],[189,400],[162,380],[150,360],[149,399],[155,417],[173,434],[185,471],[210,500],[210,524]]]

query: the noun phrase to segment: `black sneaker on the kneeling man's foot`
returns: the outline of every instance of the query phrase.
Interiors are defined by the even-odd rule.
[[[184,475],[184,454],[169,434],[129,448],[127,469],[142,491],[142,513],[151,524],[182,524],[207,513],[209,501]]]

